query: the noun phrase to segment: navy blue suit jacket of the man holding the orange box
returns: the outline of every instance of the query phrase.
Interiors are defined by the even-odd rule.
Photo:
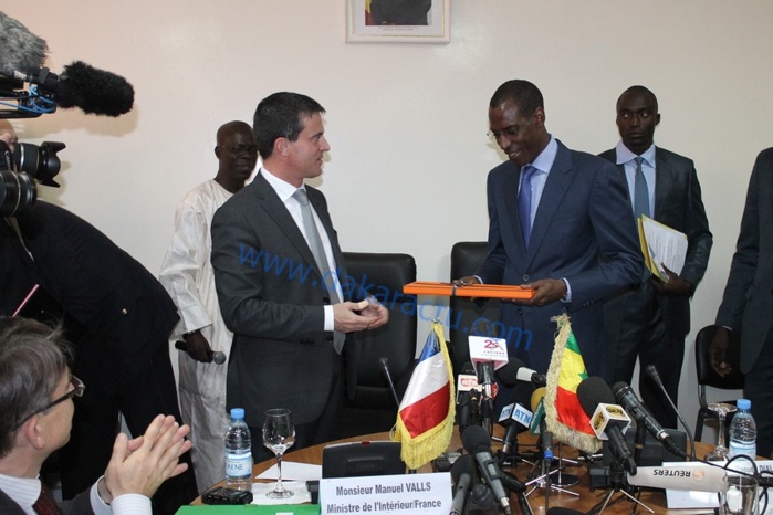
[[[546,371],[556,330],[551,317],[567,312],[588,374],[604,376],[603,301],[636,283],[643,270],[627,188],[614,166],[558,143],[526,251],[518,214],[519,179],[512,161],[489,174],[489,255],[477,275],[492,284],[565,277],[572,302],[543,307],[503,303],[511,356],[515,353]]]

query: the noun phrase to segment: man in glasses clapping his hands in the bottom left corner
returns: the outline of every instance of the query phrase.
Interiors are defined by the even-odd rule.
[[[71,375],[62,332],[22,317],[0,317],[0,513],[60,513],[39,475],[70,437],[73,399],[85,385]],[[109,464],[91,488],[62,506],[69,515],[150,515],[148,498],[190,449],[189,428],[154,417],[143,437],[115,439]],[[139,435],[139,434],[137,434]]]

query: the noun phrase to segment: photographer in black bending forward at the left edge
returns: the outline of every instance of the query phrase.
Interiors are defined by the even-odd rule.
[[[8,123],[0,134],[6,141],[15,137]],[[119,412],[133,434],[158,413],[180,421],[168,349],[177,308],[139,262],[85,220],[48,202],[0,223],[0,314],[13,314],[40,285],[32,301],[50,297],[49,306],[59,305],[54,318],[64,320],[75,347],[73,372],[88,385],[70,442],[59,453],[62,494],[72,498],[107,466]],[[182,461],[190,463],[188,453]],[[190,466],[161,485],[154,513],[173,515],[197,494]]]

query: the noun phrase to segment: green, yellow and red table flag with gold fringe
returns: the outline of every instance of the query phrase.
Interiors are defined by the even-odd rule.
[[[588,453],[598,452],[602,442],[591,428],[591,418],[577,399],[577,386],[588,377],[570,317],[552,318],[558,326],[547,369],[545,423],[558,441]]]

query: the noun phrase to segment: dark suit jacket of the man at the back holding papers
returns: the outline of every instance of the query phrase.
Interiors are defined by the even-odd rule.
[[[617,153],[614,148],[599,154],[599,157],[613,164],[617,161]],[[625,181],[625,167],[619,165],[617,169]],[[652,218],[687,234],[687,258],[679,276],[690,283],[694,292],[709,265],[713,238],[709,231],[709,220],[706,217],[698,174],[692,159],[660,147],[655,148]],[[636,234],[638,238],[638,231]],[[666,330],[673,337],[687,336],[690,332],[690,298],[664,296],[657,293],[656,295]]]

